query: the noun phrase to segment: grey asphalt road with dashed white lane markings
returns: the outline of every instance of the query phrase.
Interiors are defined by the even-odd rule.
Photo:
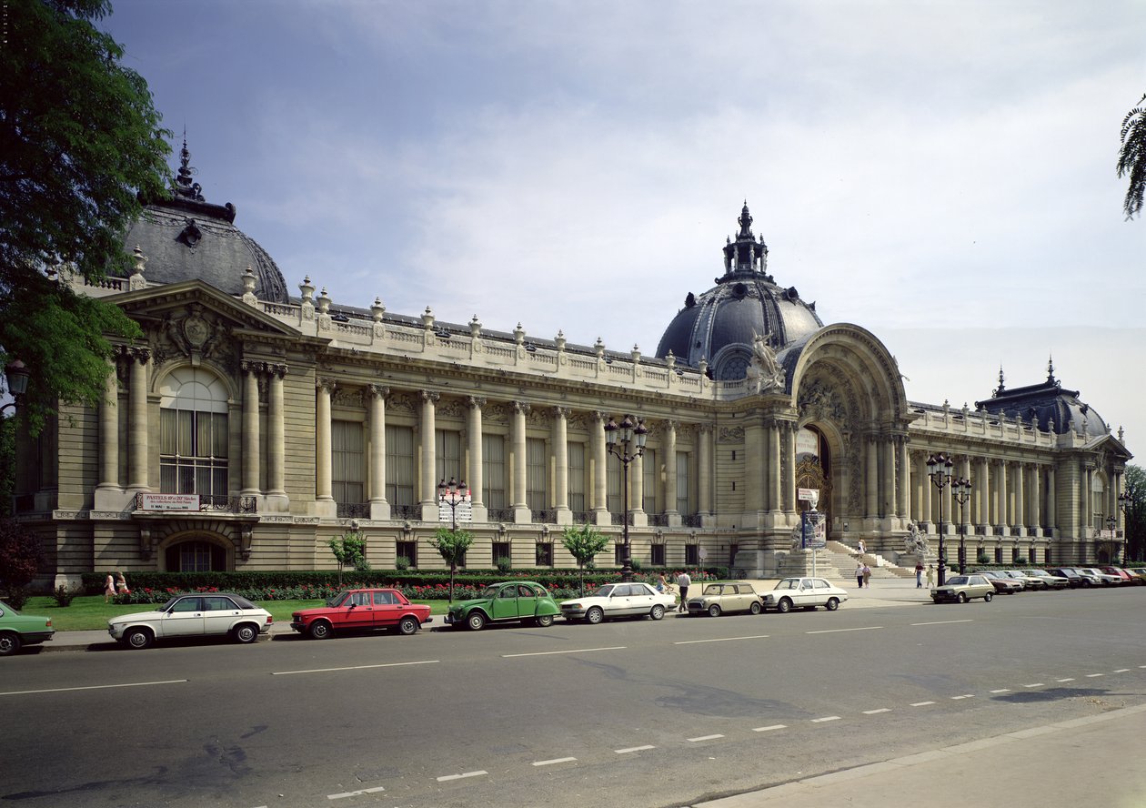
[[[1075,590],[21,654],[0,664],[0,801],[689,805],[1141,704],[1144,605]]]

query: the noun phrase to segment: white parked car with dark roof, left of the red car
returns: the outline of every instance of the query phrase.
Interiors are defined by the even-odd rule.
[[[234,593],[176,595],[154,612],[120,614],[108,620],[108,634],[128,648],[144,649],[171,637],[229,636],[253,643],[270,630],[274,618]]]

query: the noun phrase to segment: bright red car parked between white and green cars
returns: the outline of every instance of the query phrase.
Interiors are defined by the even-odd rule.
[[[397,589],[348,589],[327,601],[325,606],[295,612],[290,627],[312,640],[327,640],[336,632],[378,628],[414,634],[432,621],[430,606],[410,603]]]

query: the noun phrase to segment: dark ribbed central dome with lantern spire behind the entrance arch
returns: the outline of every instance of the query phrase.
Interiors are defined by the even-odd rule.
[[[745,378],[758,335],[778,353],[824,327],[815,303],[804,303],[795,287],[780,288],[768,274],[768,245],[752,234],[747,202],[737,221],[740,230],[735,242],[727,240],[716,287],[700,297],[690,292],[657,346],[658,356],[672,351],[691,367],[705,359],[716,379]]]

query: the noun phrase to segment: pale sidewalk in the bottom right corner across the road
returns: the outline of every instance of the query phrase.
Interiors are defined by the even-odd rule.
[[[1146,805],[1146,705],[697,802],[692,808]]]

